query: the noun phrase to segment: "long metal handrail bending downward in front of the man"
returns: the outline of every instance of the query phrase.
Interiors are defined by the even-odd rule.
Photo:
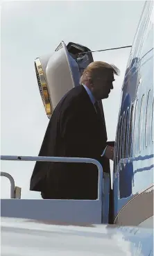
[[[103,168],[101,164],[92,158],[80,158],[80,157],[31,157],[31,156],[16,156],[16,155],[1,155],[1,160],[12,161],[40,161],[40,162],[83,162],[87,164],[95,164],[99,170],[98,180],[98,200],[103,197]]]

